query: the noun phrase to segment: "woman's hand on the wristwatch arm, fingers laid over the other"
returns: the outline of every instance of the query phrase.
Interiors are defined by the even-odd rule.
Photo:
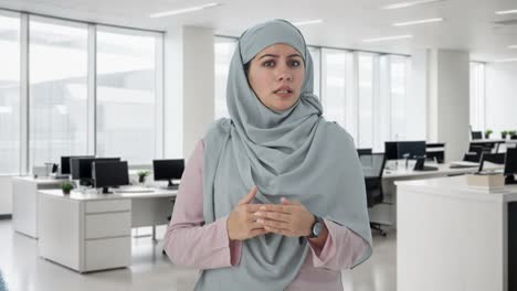
[[[255,213],[265,230],[288,236],[309,236],[315,216],[297,201],[282,198],[282,205],[266,204]]]

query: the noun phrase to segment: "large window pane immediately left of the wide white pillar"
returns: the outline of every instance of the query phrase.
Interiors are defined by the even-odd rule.
[[[160,45],[161,34],[97,26],[98,157],[122,157],[130,164],[161,157],[156,85]]]

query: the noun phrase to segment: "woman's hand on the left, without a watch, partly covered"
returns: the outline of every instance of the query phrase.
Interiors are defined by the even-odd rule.
[[[226,228],[231,240],[244,240],[268,233],[256,222],[258,217],[254,215],[262,204],[250,204],[255,197],[256,192],[256,186],[253,186],[228,216]]]

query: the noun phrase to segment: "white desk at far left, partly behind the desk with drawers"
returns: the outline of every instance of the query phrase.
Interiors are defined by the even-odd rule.
[[[15,231],[38,238],[38,191],[59,188],[63,180],[12,177],[12,225]]]

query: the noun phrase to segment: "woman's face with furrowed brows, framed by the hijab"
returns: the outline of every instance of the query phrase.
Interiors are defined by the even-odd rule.
[[[299,52],[287,44],[273,44],[251,61],[247,80],[264,106],[283,111],[298,100],[304,75]]]

